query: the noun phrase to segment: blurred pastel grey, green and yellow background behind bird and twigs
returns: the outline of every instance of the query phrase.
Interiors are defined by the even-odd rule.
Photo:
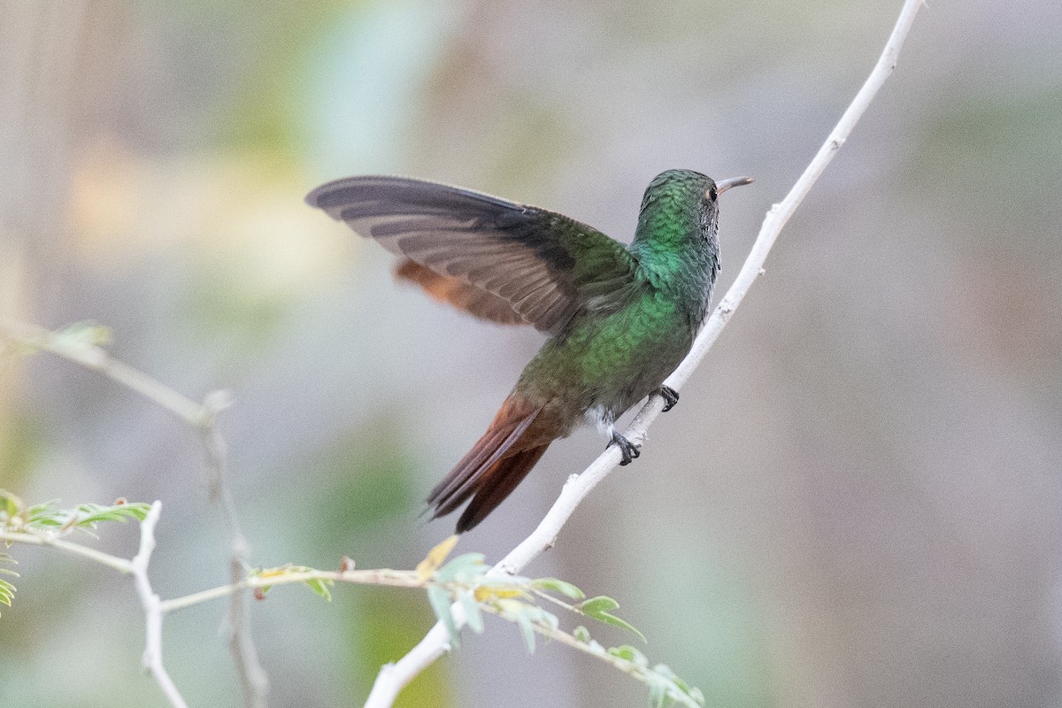
[[[542,339],[395,284],[387,253],[303,195],[409,174],[629,240],[657,172],[749,174],[722,202],[725,288],[900,5],[4,0],[0,311],[106,325],[175,390],[230,390],[255,565],[410,568],[452,529],[418,518],[427,491]],[[617,598],[709,706],[1057,705],[1060,46],[1055,0],[923,8],[681,405],[528,573]],[[0,366],[0,487],[161,499],[156,590],[225,582],[187,427],[53,357]],[[459,552],[500,558],[602,447],[554,445]],[[136,530],[98,546],[132,556]],[[165,705],[127,579],[12,551],[0,705]],[[241,705],[226,607],[167,621],[191,705]],[[360,705],[431,624],[422,593],[360,587],[274,590],[252,616],[274,706]],[[399,705],[645,695],[495,622]]]

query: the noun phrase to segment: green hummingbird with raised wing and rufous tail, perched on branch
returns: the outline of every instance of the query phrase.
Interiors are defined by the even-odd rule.
[[[616,418],[660,394],[689,352],[719,264],[719,195],[749,177],[713,180],[691,170],[656,175],[628,246],[555,211],[460,187],[391,176],[329,182],[306,196],[401,257],[400,280],[435,299],[549,339],[472,450],[428,496],[432,519],[468,502],[457,533],[474,528],[516,488],[553,441],[596,424],[619,447],[638,447]]]

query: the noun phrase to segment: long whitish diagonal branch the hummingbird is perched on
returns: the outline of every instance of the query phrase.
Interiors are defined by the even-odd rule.
[[[921,4],[922,0],[905,1],[903,10],[900,13],[900,18],[896,20],[892,34],[885,46],[885,51],[878,58],[867,82],[859,89],[859,92],[844,111],[837,126],[830,132],[829,137],[826,138],[825,143],[816,154],[807,169],[804,170],[800,179],[789,190],[785,200],[781,204],[774,205],[767,213],[764,224],[759,229],[759,235],[756,237],[752,251],[746,259],[737,279],[698,334],[689,355],[665,381],[666,385],[678,391],[686,382],[708,349],[715,344],[723,327],[730,322],[731,316],[738,305],[740,305],[749,288],[764,272],[764,262],[767,260],[767,255],[782,231],[783,226],[789,221],[789,218],[796,210],[796,207],[800,206],[804,196],[807,195],[811,186],[819,178],[819,175],[822,174],[823,170],[826,169],[826,166],[837,151],[847,140],[859,117],[862,116],[867,106],[870,105],[870,102],[895,67],[896,56]],[[646,437],[649,425],[661,413],[663,407],[664,401],[660,396],[651,397],[635,416],[630,427],[623,432],[623,435],[632,443],[636,445],[640,444]],[[601,453],[581,474],[573,474],[568,478],[556,502],[553,503],[534,532],[513,549],[509,555],[502,558],[492,569],[491,574],[513,574],[519,572],[531,560],[550,548],[561,528],[568,520],[568,517],[571,516],[579,503],[616,467],[619,459],[619,448],[612,446]],[[452,614],[457,626],[462,626],[465,615],[460,603],[455,603]],[[432,661],[447,651],[449,651],[449,639],[446,627],[441,622],[438,622],[409,654],[396,663],[389,663],[380,669],[369,700],[365,702],[365,708],[384,708],[391,706],[397,697],[398,692],[414,676],[424,671]]]

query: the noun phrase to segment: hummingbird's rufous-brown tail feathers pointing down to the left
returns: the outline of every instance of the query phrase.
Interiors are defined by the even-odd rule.
[[[458,520],[458,533],[486,518],[527,477],[553,441],[553,435],[543,434],[541,412],[541,408],[514,396],[507,398],[483,436],[428,496],[428,503],[434,507],[431,518],[445,516],[469,499],[472,502]],[[539,425],[532,427],[536,419]]]

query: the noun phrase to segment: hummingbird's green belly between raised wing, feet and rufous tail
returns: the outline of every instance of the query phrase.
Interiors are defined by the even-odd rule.
[[[516,390],[578,426],[592,409],[615,418],[657,391],[695,332],[675,303],[652,294],[609,315],[585,315],[543,345]],[[568,432],[570,432],[570,429]]]

